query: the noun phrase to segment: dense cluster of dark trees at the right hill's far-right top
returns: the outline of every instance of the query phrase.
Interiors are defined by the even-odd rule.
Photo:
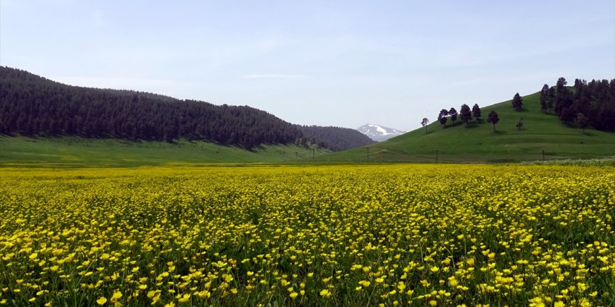
[[[581,128],[615,131],[615,79],[574,80],[567,87],[560,77],[554,87],[544,84],[540,91],[540,108],[557,114],[563,123],[577,123]]]

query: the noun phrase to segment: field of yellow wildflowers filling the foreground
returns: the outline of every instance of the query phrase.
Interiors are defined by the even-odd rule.
[[[615,301],[615,167],[0,175],[0,306]]]

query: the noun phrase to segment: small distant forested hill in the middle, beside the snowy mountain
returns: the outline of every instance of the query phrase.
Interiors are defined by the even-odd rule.
[[[303,134],[316,140],[319,147],[340,151],[366,146],[375,142],[357,130],[340,127],[298,126]]]

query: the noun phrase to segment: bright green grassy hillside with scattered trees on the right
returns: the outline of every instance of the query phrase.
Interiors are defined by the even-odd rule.
[[[457,121],[442,128],[438,121],[425,128],[370,145],[369,160],[432,162],[438,150],[442,162],[514,162],[545,158],[597,158],[615,155],[615,133],[593,129],[571,128],[554,114],[540,110],[540,93],[523,98],[523,110],[516,112],[510,101],[482,108],[480,123]],[[471,107],[471,106],[470,106]],[[491,110],[498,112],[500,122],[487,123]],[[523,117],[523,130],[516,123]],[[368,149],[360,147],[320,156],[319,160],[367,160]]]

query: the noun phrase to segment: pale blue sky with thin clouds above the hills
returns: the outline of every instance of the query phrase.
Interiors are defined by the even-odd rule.
[[[615,1],[0,0],[0,66],[410,130],[558,77],[615,78]]]

